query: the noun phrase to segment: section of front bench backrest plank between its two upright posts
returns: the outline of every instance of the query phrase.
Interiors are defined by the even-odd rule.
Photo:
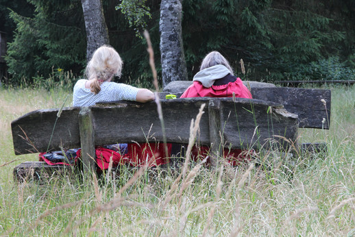
[[[160,102],[167,141],[188,143],[191,119],[197,116],[201,104],[208,103],[208,99],[194,99],[193,101],[171,99]],[[149,140],[154,142],[154,140],[163,140],[157,105],[154,102],[101,103],[91,110],[93,111],[95,138],[98,145],[119,141],[146,142]],[[206,127],[208,116],[202,116],[201,124]],[[201,136],[206,140],[209,137],[208,129],[201,129]]]

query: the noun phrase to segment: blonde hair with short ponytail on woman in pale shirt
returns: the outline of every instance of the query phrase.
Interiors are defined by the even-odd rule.
[[[121,77],[122,60],[114,48],[109,45],[99,47],[94,53],[93,58],[86,66],[86,76],[88,79],[95,79],[91,84],[91,91],[97,94],[102,82],[106,82],[114,75]]]

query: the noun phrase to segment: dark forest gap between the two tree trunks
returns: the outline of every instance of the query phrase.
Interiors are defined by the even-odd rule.
[[[156,62],[156,70],[161,75],[160,51],[159,51],[159,2],[147,3],[147,7],[151,12],[151,18],[147,19],[147,29],[150,34],[151,42],[154,49],[154,58]],[[113,11],[112,11],[113,10]],[[109,27],[110,43],[117,49],[121,58],[123,58],[122,77],[118,82],[124,82],[133,86],[144,86],[146,88],[154,88],[152,84],[152,73],[149,66],[149,58],[147,53],[147,42],[143,37],[136,37],[136,31],[127,23],[127,18],[120,11],[114,10],[107,6],[105,15],[115,16],[118,21],[106,21]],[[162,80],[159,76],[158,82],[161,85]]]

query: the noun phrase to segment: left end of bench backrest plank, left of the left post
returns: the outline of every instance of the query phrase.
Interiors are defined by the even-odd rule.
[[[43,152],[47,148],[49,151],[58,151],[60,147],[80,147],[77,117],[79,110],[80,108],[63,108],[57,123],[59,109],[36,110],[12,121],[12,140],[16,155]]]

